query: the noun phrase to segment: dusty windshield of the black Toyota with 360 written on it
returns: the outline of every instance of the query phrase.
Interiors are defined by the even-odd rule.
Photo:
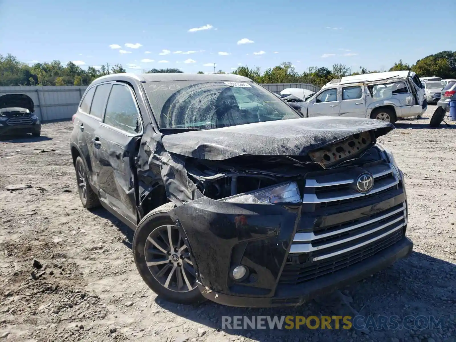
[[[160,129],[201,129],[301,118],[255,83],[165,81],[144,84]]]

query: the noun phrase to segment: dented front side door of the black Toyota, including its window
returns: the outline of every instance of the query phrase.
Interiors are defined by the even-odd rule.
[[[100,167],[99,197],[133,225],[138,219],[135,157],[142,130],[140,111],[132,88],[125,83],[113,83],[103,122],[94,137]]]

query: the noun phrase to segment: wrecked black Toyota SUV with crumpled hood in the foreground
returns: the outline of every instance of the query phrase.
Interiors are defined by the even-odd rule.
[[[86,208],[135,230],[140,275],[183,304],[293,306],[407,256],[403,174],[373,119],[301,114],[249,78],[120,73],[73,116]]]

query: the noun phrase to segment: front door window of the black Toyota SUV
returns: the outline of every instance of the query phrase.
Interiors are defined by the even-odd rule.
[[[130,134],[141,130],[135,98],[127,86],[114,84],[109,94],[104,123]]]

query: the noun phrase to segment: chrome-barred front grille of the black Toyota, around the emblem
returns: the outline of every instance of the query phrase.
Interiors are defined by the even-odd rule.
[[[355,181],[366,172],[374,177],[374,184],[369,192],[361,193],[356,190]],[[327,260],[361,253],[361,257],[344,261],[344,266],[332,263],[333,272],[372,255],[366,251],[376,253],[386,248],[389,244],[382,241],[402,234],[407,224],[404,197],[398,197],[402,193],[396,169],[383,160],[308,174],[303,196],[303,214],[308,219],[295,233],[289,259],[295,264],[298,260],[299,267],[307,270],[321,263],[326,265]],[[298,278],[306,281],[316,276],[320,275]]]

